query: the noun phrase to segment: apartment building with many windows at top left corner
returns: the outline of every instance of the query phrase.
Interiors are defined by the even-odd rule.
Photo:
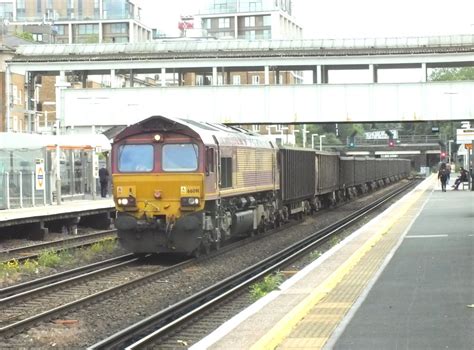
[[[133,0],[0,0],[10,31],[39,43],[123,43],[152,39]]]

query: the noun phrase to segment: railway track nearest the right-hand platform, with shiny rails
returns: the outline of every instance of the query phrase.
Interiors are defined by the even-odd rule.
[[[270,256],[269,258],[234,274],[227,279],[216,283],[205,290],[202,290],[181,302],[169,306],[150,317],[137,322],[128,328],[121,330],[112,336],[90,346],[88,349],[143,349],[143,348],[166,348],[176,346],[182,339],[190,339],[186,335],[190,327],[199,320],[206,318],[206,313],[210,310],[219,310],[225,307],[230,300],[239,299],[250,284],[255,283],[264,276],[288,266],[291,262],[322,245],[332,236],[344,230],[367,214],[383,205],[395,196],[411,188],[413,183],[399,188],[383,198],[363,207],[343,220],[331,226],[315,232],[313,235],[295,243],[287,249]],[[222,323],[222,320],[219,319]],[[191,328],[192,329],[192,328]],[[192,330],[193,331],[193,330]],[[183,335],[183,332],[185,333]],[[195,336],[195,334],[193,335]],[[136,341],[136,339],[139,339]],[[181,339],[181,340],[180,340]],[[166,345],[167,344],[167,345]]]

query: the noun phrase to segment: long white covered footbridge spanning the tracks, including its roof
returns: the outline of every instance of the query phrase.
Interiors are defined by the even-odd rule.
[[[466,66],[474,66],[474,35],[31,45],[7,62],[6,75],[8,83],[26,74],[30,99],[37,77],[54,76],[51,104],[64,126],[130,124],[156,114],[340,123],[474,119],[474,82],[430,80],[436,68]],[[362,79],[341,83],[341,72]],[[384,78],[393,72],[395,79]],[[7,121],[13,112],[7,108]]]

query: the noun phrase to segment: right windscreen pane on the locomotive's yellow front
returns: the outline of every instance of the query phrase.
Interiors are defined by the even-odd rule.
[[[163,145],[164,171],[195,171],[198,168],[198,146],[191,143]]]

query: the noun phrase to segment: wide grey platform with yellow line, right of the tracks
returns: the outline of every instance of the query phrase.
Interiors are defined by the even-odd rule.
[[[432,175],[191,349],[473,349],[473,281],[474,192]]]

